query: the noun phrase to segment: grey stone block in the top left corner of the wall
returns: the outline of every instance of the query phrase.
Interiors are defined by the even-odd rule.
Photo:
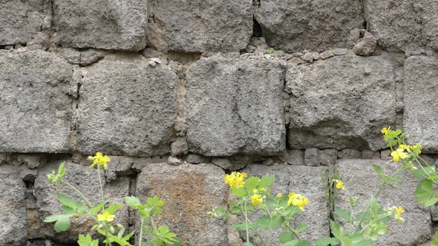
[[[43,25],[43,1],[0,2],[0,45],[26,44]]]

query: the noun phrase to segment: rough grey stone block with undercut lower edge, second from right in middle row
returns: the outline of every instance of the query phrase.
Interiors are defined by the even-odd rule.
[[[349,55],[288,69],[290,148],[384,148],[380,129],[395,121],[393,70],[385,57]]]

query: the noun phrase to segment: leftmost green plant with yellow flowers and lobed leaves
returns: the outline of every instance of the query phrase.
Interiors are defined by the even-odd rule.
[[[50,182],[55,182],[57,186],[64,184],[82,198],[82,201],[73,199],[62,193],[57,193],[57,200],[62,203],[61,210],[64,212],[59,215],[50,215],[44,219],[44,222],[55,222],[54,229],[56,232],[66,231],[69,229],[72,217],[86,216],[94,221],[92,231],[97,231],[105,237],[103,243],[108,246],[112,243],[117,243],[122,246],[131,246],[129,243],[130,238],[134,236],[134,231],[125,235],[125,228],[121,224],[114,224],[115,212],[122,206],[121,204],[110,204],[109,198],[104,198],[104,190],[101,179],[101,168],[106,170],[107,164],[111,161],[110,157],[97,152],[94,157],[88,157],[90,161],[93,161],[91,168],[97,167],[97,176],[99,178],[101,203],[94,205],[90,203],[90,200],[84,196],[76,187],[64,180],[66,171],[64,169],[65,162],[59,165],[57,173],[52,171],[48,175]],[[85,203],[84,203],[85,202]],[[147,198],[146,203],[142,204],[139,198],[136,196],[125,197],[125,203],[134,210],[137,210],[140,216],[140,232],[138,245],[180,245],[179,238],[174,233],[169,231],[167,226],[157,226],[154,222],[154,217],[162,213],[161,206],[164,205],[164,201],[161,201],[157,196]],[[117,233],[116,229],[117,229]],[[149,240],[143,243],[143,231],[145,231]],[[79,235],[78,245],[80,246],[97,246],[99,245],[98,239],[92,239],[90,234]]]

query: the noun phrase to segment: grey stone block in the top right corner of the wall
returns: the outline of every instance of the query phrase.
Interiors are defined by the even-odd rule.
[[[438,49],[436,1],[379,1],[365,4],[369,31],[386,50]]]

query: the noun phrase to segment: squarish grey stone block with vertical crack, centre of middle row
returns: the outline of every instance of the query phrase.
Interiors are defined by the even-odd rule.
[[[187,72],[188,144],[206,156],[285,150],[283,81],[278,61],[201,59]]]

